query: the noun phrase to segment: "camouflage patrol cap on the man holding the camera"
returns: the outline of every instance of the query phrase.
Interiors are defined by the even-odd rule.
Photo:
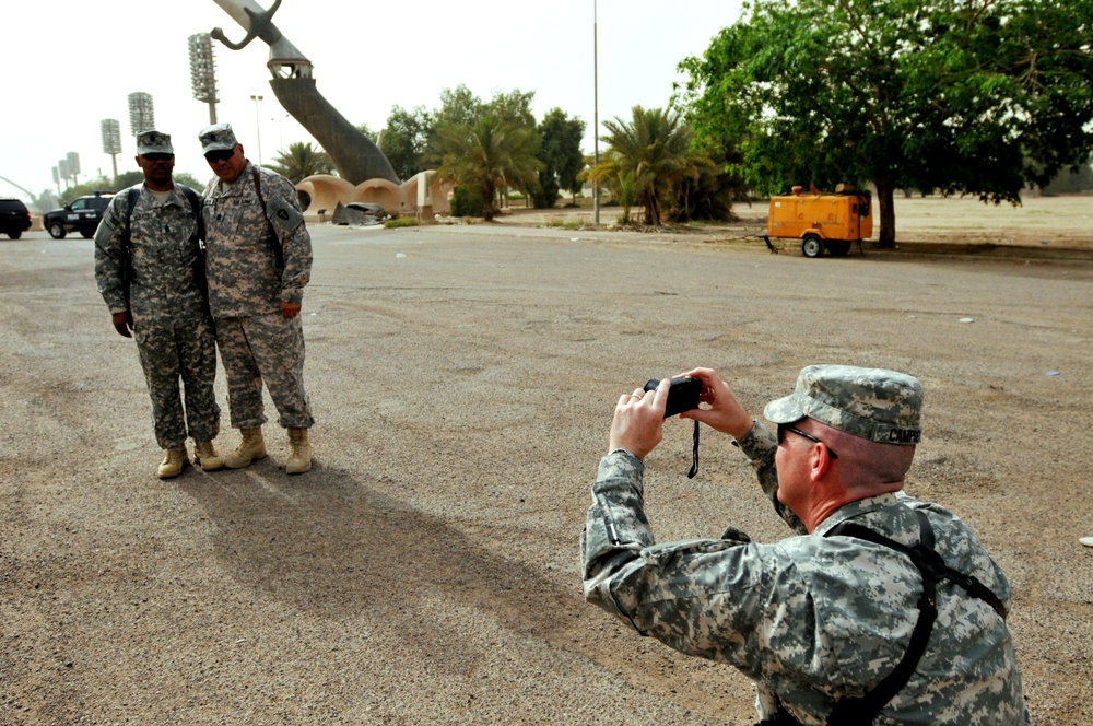
[[[804,417],[883,444],[914,446],[922,437],[922,384],[906,373],[850,365],[809,365],[797,387],[771,401],[763,415],[772,423]]]

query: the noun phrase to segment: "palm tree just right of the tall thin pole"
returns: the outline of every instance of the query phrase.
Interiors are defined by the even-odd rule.
[[[645,208],[645,223],[657,225],[669,191],[683,179],[697,176],[691,127],[679,114],[661,108],[634,106],[633,115],[630,124],[618,116],[603,121],[609,131],[604,137],[608,152],[593,174],[616,191],[632,189],[634,199]],[[627,216],[628,212],[627,206]]]

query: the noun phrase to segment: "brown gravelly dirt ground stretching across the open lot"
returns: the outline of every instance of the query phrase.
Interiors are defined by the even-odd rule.
[[[621,393],[709,365],[759,414],[814,362],[921,378],[907,489],[1008,573],[1034,722],[1093,723],[1093,260],[1045,253],[1089,248],[1093,204],[951,201],[901,200],[900,250],[814,260],[749,239],[761,214],[315,225],[293,478],[270,407],[268,459],[157,480],[91,243],[3,241],[0,724],[750,724],[747,679],[584,604],[577,536]],[[648,459],[658,538],[786,536],[725,437],[686,479],[690,435]]]

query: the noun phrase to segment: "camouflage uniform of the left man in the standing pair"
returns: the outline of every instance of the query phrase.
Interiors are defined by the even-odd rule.
[[[95,232],[95,280],[110,313],[129,309],[133,337],[152,398],[155,437],[162,448],[199,442],[220,431],[213,391],[216,338],[195,279],[199,259],[193,208],[176,185],[166,201],[140,186],[129,221],[132,281],[129,304],[121,284],[128,190],[114,197]],[[178,390],[185,385],[186,408]]]

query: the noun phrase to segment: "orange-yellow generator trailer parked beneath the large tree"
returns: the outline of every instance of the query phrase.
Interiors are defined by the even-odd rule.
[[[820,257],[824,249],[841,257],[855,242],[860,250],[861,241],[872,235],[871,206],[868,194],[843,185],[835,188],[835,194],[807,194],[794,187],[791,195],[771,197],[763,238],[772,250],[771,237],[783,237],[800,239],[806,257]]]

